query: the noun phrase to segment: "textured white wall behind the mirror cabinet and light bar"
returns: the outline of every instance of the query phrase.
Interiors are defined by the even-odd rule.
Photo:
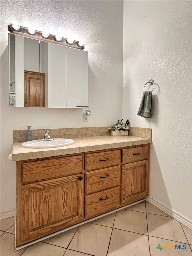
[[[16,163],[13,130],[110,126],[122,116],[123,1],[3,1],[1,0],[1,212],[16,206]],[[7,25],[17,20],[75,35],[89,52],[89,107],[81,109],[9,107]],[[38,28],[38,27],[37,27]],[[66,34],[64,33],[64,35]],[[110,40],[110,39],[113,40]],[[115,44],[118,38],[118,47]]]

